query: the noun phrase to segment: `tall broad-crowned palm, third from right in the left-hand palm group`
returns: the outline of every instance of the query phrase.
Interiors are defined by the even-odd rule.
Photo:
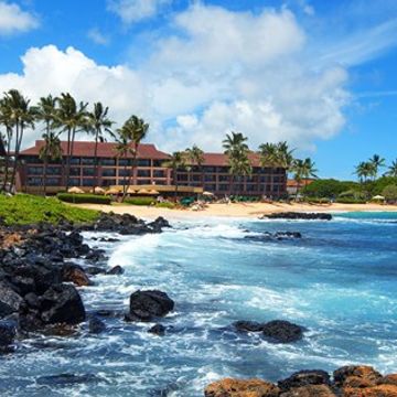
[[[67,132],[66,146],[66,190],[69,187],[71,159],[73,157],[73,147],[76,133],[82,130],[87,130],[87,108],[88,104],[81,101],[78,105],[75,98],[66,93],[61,94],[60,108],[57,111],[57,124],[63,127],[63,131]]]

